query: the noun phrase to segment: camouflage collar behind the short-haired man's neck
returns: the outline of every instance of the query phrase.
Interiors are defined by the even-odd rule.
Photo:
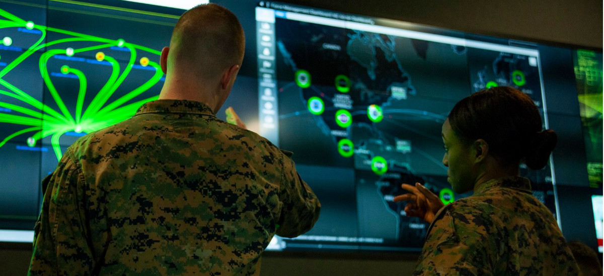
[[[186,99],[158,99],[143,104],[137,114],[144,113],[188,113],[216,116],[207,104]]]

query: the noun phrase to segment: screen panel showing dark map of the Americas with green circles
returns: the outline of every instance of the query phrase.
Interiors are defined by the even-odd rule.
[[[269,249],[418,251],[429,225],[393,198],[405,192],[400,184],[416,182],[445,204],[469,195],[452,192],[442,164],[441,127],[454,104],[512,86],[547,122],[530,43],[405,30],[278,2],[260,2],[256,20],[261,134],[294,151],[323,205],[315,228]],[[521,171],[556,213],[550,166]]]

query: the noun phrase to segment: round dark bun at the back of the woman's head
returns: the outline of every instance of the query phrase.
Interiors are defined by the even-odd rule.
[[[557,142],[558,136],[553,130],[544,130],[536,133],[528,145],[524,163],[531,169],[544,168]]]

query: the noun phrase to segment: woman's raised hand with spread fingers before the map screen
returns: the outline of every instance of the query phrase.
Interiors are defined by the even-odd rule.
[[[395,196],[394,202],[408,201],[405,206],[407,216],[416,216],[428,223],[432,223],[436,213],[444,206],[439,196],[419,183],[416,183],[415,186],[402,184],[401,187],[410,193]]]

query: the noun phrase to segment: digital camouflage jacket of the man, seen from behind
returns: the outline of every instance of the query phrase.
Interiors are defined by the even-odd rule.
[[[194,101],[82,137],[42,185],[31,275],[259,275],[320,210],[284,152]]]

